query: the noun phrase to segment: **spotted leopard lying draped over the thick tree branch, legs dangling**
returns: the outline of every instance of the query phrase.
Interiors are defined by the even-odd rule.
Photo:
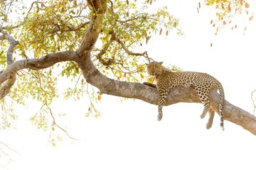
[[[149,75],[151,75],[156,84],[149,82],[144,82],[147,86],[155,87],[159,93],[158,98],[158,115],[157,120],[161,120],[163,117],[162,108],[166,102],[166,98],[169,94],[170,89],[174,87],[187,87],[193,86],[196,90],[196,94],[203,104],[203,112],[201,113],[201,118],[205,118],[206,113],[209,114],[208,123],[206,124],[206,129],[210,129],[213,125],[213,118],[215,115],[215,110],[210,106],[209,93],[211,90],[219,91],[220,94],[220,128],[224,128],[224,101],[225,94],[224,89],[220,81],[212,77],[210,74],[202,72],[172,72],[170,69],[164,67],[163,62],[149,62],[146,64],[146,69]]]

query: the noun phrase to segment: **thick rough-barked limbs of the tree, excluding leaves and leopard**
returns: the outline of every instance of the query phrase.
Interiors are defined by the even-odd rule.
[[[21,69],[44,69],[52,66],[57,62],[75,61],[78,63],[83,76],[87,83],[100,89],[102,94],[121,96],[127,98],[137,98],[151,104],[157,104],[158,93],[155,88],[139,83],[131,83],[125,81],[117,81],[110,79],[101,74],[91,60],[91,50],[95,45],[102,27],[102,20],[106,10],[106,0],[88,0],[90,8],[94,11],[90,26],[82,39],[78,51],[56,52],[46,55],[40,59],[20,60],[10,63],[10,55],[12,57],[13,49],[10,50],[7,60],[8,67],[0,74],[1,93],[0,98],[4,98],[8,94],[9,89],[16,81],[16,72]],[[1,30],[1,29],[0,29]],[[1,33],[3,33],[1,31]],[[0,36],[0,40],[9,38],[6,34]],[[10,42],[14,45],[15,41]],[[11,47],[10,45],[10,47]],[[15,46],[15,45],[14,45]],[[174,88],[171,89],[166,101],[166,106],[179,103],[200,103],[196,91],[193,87]],[[218,111],[219,96],[215,91],[210,91],[210,104],[215,111]],[[240,125],[242,128],[249,130],[256,135],[256,117],[247,113],[232,104],[225,101],[224,118],[230,122]]]

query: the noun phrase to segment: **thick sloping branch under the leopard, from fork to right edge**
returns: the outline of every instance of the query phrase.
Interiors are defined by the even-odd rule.
[[[84,74],[87,82],[96,86],[102,94],[137,98],[147,103],[157,105],[158,92],[156,88],[139,83],[109,79],[101,74],[90,60],[87,60],[86,67],[80,68],[82,69],[82,73]],[[169,96],[166,99],[166,106],[180,102],[200,103],[193,86],[171,89]],[[219,95],[215,91],[210,91],[210,104],[215,111],[218,112]],[[256,135],[256,117],[237,106],[233,106],[231,103],[228,103],[228,101],[225,101],[224,119],[240,125],[242,128],[245,128],[252,132],[252,134]]]

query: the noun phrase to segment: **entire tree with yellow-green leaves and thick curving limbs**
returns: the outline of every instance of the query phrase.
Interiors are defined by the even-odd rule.
[[[210,2],[214,3],[208,5],[228,3]],[[169,35],[174,30],[181,34],[178,18],[166,8],[151,13],[146,6],[152,1],[145,1],[138,10],[128,0],[34,1],[29,6],[21,5],[21,1],[0,3],[0,58],[4,70],[0,74],[4,111],[1,128],[9,128],[10,121],[16,120],[16,114],[6,106],[10,102],[23,104],[24,97],[32,97],[42,103],[42,108],[31,121],[44,130],[57,127],[66,132],[55,123],[50,110],[53,98],[60,97],[60,76],[75,82],[74,89],[65,91],[65,98],[79,98],[87,93],[82,89],[91,84],[99,90],[92,94],[96,101],[100,101],[102,94],[110,94],[157,104],[156,89],[139,82],[146,79],[144,63],[153,59],[144,51],[133,50],[142,49],[143,43],[156,33]],[[11,20],[14,15],[20,17]],[[178,102],[200,101],[193,87],[171,89],[166,105]],[[218,94],[214,91],[210,92],[210,102],[218,111]],[[92,111],[97,113],[93,102],[89,108]],[[256,135],[255,116],[228,101],[224,118]]]

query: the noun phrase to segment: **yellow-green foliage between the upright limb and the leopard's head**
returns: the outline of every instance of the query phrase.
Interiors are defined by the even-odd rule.
[[[151,36],[164,31],[167,36],[170,30],[181,34],[178,18],[171,16],[166,7],[152,12],[147,3],[138,6],[131,1],[115,0],[107,4],[98,43],[102,47],[95,50],[94,56],[95,64],[104,74],[123,81],[144,79],[144,63],[149,59],[142,49]]]

